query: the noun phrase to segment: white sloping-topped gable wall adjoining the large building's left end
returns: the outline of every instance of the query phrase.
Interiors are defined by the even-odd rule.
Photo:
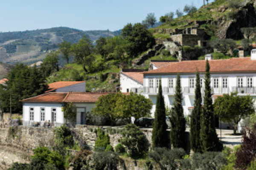
[[[121,73],[120,74],[120,91],[122,93],[127,93],[127,92],[142,93],[143,84]]]

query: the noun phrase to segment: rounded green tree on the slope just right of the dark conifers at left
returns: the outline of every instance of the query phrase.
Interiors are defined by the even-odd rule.
[[[55,71],[59,71],[58,60],[59,56],[57,52],[47,54],[46,58],[44,58],[43,64],[41,64],[41,69],[46,77]]]

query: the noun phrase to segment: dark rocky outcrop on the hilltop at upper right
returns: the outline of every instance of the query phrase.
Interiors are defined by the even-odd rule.
[[[241,28],[256,27],[256,13],[253,3],[245,1],[237,10],[235,19],[227,21],[227,18],[223,16],[215,24],[219,26],[216,32],[218,38],[243,39],[244,35],[241,33]]]

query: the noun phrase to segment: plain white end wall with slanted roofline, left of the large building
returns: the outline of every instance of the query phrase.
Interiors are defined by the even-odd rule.
[[[143,88],[143,85],[127,77],[124,74],[120,74],[120,91],[122,93],[131,92],[131,88]]]

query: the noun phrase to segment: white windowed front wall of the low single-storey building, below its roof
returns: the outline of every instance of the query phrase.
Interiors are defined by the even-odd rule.
[[[95,103],[74,103],[76,105],[76,124],[85,125],[86,113],[91,112]],[[23,125],[39,122],[41,126],[50,121],[55,126],[66,123],[62,111],[63,103],[23,102]]]

